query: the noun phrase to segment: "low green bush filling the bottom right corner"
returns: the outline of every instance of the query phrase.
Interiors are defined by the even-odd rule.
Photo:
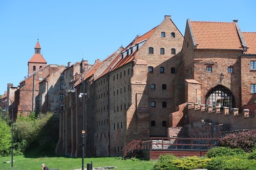
[[[212,158],[206,165],[208,170],[256,170],[256,161],[238,157],[221,156]]]

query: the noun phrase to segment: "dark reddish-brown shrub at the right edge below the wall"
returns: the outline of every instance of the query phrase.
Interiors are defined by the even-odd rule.
[[[221,147],[242,148],[251,151],[256,144],[256,130],[228,134],[220,140]]]

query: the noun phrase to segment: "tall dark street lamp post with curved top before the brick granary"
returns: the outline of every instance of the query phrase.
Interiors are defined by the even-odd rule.
[[[74,77],[76,76],[80,76],[81,79],[82,79],[82,93],[79,94],[79,98],[82,99],[82,170],[84,169],[84,135],[86,134],[86,131],[84,129],[84,96],[87,95],[87,93],[84,93],[84,78],[81,76],[81,75],[74,75],[73,76],[73,85],[72,87],[69,89],[70,92],[75,92],[76,91],[76,88],[74,87]]]

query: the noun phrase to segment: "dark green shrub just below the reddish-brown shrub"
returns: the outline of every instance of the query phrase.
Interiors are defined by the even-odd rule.
[[[236,156],[236,155],[245,155],[245,151],[242,149],[231,149],[228,147],[216,147],[210,149],[205,156],[208,158],[219,157],[219,156]]]

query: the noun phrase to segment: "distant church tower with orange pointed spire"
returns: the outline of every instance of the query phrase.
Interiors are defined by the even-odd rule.
[[[41,55],[41,46],[37,40],[35,45],[35,54],[28,62],[28,75],[38,71],[39,69],[45,67],[47,61]]]

